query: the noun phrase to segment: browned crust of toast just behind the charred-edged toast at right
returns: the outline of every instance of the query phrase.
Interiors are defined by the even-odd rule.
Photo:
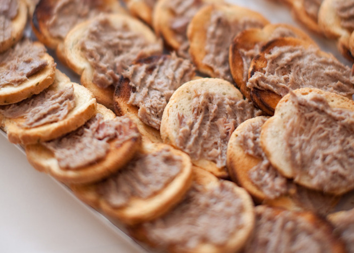
[[[304,39],[306,41],[315,42],[302,30],[288,25],[288,24],[268,24],[259,28],[251,28],[240,32],[230,45],[229,52],[229,64],[231,75],[240,89],[241,93],[248,99],[251,99],[250,90],[247,88],[247,80],[244,79],[244,70],[247,66],[244,66],[242,51],[250,51],[255,48],[255,46],[261,48],[266,43],[269,42],[269,37],[272,35],[274,30],[281,28],[291,31],[297,38]],[[274,39],[274,38],[273,38]]]

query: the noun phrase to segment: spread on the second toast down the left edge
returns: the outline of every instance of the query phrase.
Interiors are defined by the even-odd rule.
[[[43,45],[25,39],[0,54],[0,88],[17,86],[44,69],[48,65],[41,59],[45,52]]]

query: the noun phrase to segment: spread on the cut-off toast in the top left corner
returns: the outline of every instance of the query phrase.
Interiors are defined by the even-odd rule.
[[[18,12],[18,0],[0,0],[0,41],[11,37],[11,21]]]

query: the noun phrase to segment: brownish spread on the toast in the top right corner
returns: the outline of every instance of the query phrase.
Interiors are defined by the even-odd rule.
[[[340,25],[350,32],[354,30],[354,1],[336,0],[334,7],[340,18]]]

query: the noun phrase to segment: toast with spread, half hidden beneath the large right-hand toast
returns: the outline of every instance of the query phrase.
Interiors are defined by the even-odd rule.
[[[321,215],[333,211],[339,197],[312,191],[282,176],[265,157],[260,146],[261,126],[268,117],[242,122],[228,143],[227,167],[233,181],[244,187],[258,203],[288,210],[308,210]]]

